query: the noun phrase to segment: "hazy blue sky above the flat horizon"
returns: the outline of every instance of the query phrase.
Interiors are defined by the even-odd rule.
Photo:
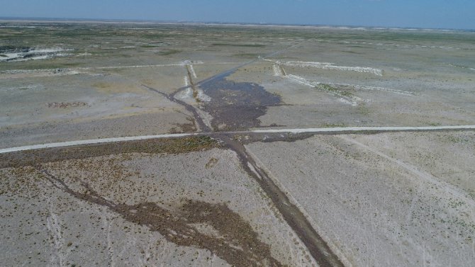
[[[1,17],[475,29],[475,0],[0,0]]]

